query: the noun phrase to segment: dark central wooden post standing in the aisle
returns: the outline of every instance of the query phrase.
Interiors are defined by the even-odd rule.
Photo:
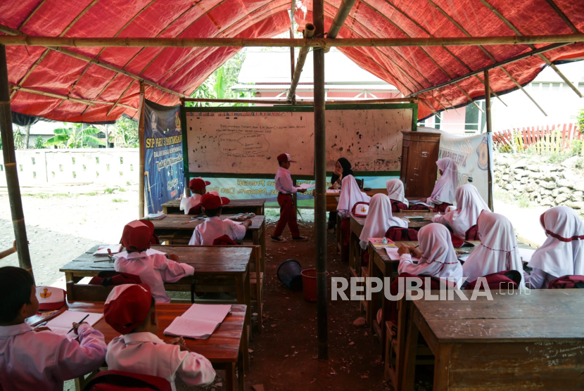
[[[324,0],[312,5],[315,36],[324,35]],[[312,51],[315,83],[315,231],[317,264],[318,358],[329,359],[326,289],[326,139],[324,129],[324,49]],[[298,69],[297,69],[298,71]]]

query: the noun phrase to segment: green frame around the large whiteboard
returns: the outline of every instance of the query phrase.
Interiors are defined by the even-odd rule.
[[[326,105],[326,111],[329,110],[397,110],[412,109],[412,132],[417,131],[418,127],[418,105],[417,103],[375,103],[375,104],[351,104],[351,105]],[[207,178],[253,178],[253,179],[271,179],[274,174],[233,174],[227,172],[189,172],[189,148],[186,145],[186,113],[224,113],[226,111],[248,113],[253,111],[272,111],[272,112],[300,112],[313,113],[314,106],[310,105],[276,105],[276,106],[218,106],[218,107],[192,107],[181,106],[181,128],[182,128],[182,158],[184,165],[184,177],[207,177]],[[274,170],[275,172],[275,170]],[[326,172],[327,177],[332,172]],[[363,171],[355,172],[358,177],[395,177],[399,176],[399,171]],[[296,179],[312,179],[314,175],[294,175]]]

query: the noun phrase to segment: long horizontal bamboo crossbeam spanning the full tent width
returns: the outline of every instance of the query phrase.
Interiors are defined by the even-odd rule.
[[[584,34],[516,35],[507,37],[434,37],[434,38],[343,38],[343,39],[276,39],[276,38],[75,38],[0,36],[6,46],[66,47],[387,47],[387,46],[481,46],[527,44],[574,44],[583,42]]]

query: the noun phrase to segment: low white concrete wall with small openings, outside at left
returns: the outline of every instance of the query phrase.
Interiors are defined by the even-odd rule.
[[[51,184],[122,185],[136,182],[138,148],[16,150],[20,186]],[[0,162],[0,186],[6,186]]]

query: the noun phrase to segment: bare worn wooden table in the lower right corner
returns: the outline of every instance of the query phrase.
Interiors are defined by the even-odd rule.
[[[402,390],[414,390],[419,333],[435,357],[435,391],[584,390],[584,290],[491,293],[409,302]]]

